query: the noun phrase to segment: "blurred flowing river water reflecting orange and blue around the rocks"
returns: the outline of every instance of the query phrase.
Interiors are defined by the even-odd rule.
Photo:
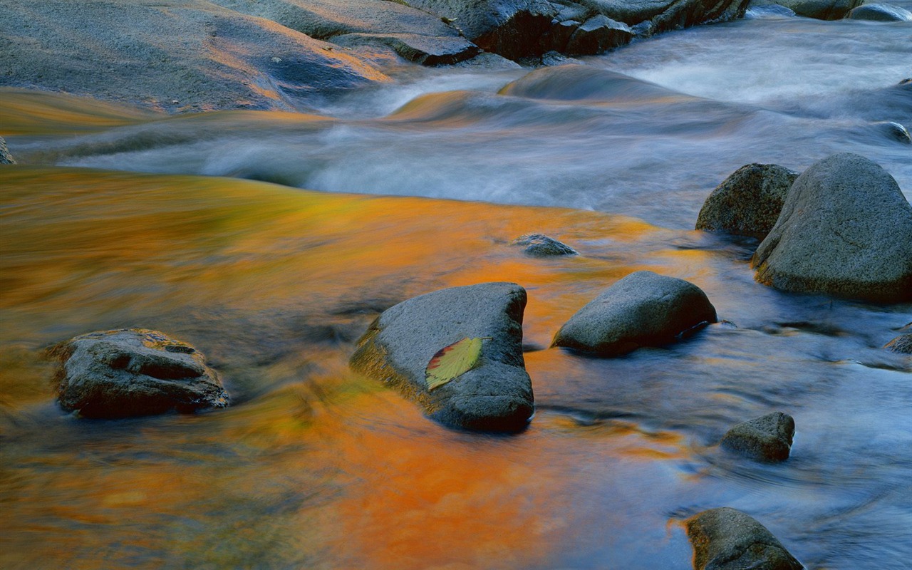
[[[808,568],[907,568],[912,368],[880,347],[912,306],[772,290],[756,244],[691,228],[749,162],[853,151],[910,196],[882,122],[912,128],[912,24],[751,16],[583,67],[412,69],[307,114],[5,91],[0,565],[684,570],[679,522],[731,506]],[[526,257],[523,233],[581,255]],[[624,358],[546,349],[639,269],[728,322]],[[445,429],[347,368],[384,308],[485,281],[529,293],[528,430]],[[233,406],[62,412],[44,349],[123,326],[200,348]],[[788,461],[718,450],[774,410]]]

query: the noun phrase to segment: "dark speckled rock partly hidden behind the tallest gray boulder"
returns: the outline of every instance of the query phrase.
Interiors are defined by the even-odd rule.
[[[748,164],[710,193],[697,216],[696,229],[764,238],[782,211],[785,194],[798,172],[777,164]]]

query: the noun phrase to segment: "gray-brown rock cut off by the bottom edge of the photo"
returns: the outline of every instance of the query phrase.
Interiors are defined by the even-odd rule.
[[[697,513],[685,521],[695,570],[802,570],[775,536],[730,507]]]

